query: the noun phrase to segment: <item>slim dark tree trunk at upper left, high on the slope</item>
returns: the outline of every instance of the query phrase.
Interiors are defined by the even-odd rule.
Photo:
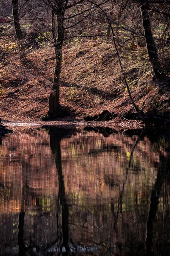
[[[24,46],[23,46],[23,33],[20,27],[20,19],[18,15],[18,0],[12,0],[12,12],[13,12],[13,18],[14,18],[14,28],[15,33],[17,36],[17,45],[18,45],[18,53],[20,57],[21,64],[24,64],[26,62],[26,56],[24,53]]]

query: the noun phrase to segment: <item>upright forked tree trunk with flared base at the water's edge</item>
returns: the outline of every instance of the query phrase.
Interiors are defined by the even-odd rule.
[[[52,35],[54,41],[54,49],[56,56],[55,70],[54,70],[54,79],[52,93],[49,97],[49,116],[56,116],[57,109],[59,108],[59,84],[60,84],[60,73],[61,73],[61,64],[62,64],[62,45],[64,40],[64,28],[63,28],[63,17],[64,17],[65,8],[63,6],[63,0],[58,1],[57,11],[52,12]],[[57,15],[57,39],[55,37],[55,17]]]

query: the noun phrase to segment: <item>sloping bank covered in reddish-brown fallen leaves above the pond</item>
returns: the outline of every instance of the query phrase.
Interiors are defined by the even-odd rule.
[[[145,47],[135,45],[131,49],[127,45],[126,52],[122,48],[119,51],[133,100],[139,109],[144,113],[167,113],[166,95],[158,93]],[[103,41],[96,47],[94,42],[86,39],[72,47],[65,45],[60,104],[68,111],[68,116],[48,122],[41,119],[48,111],[55,65],[54,49],[50,43],[44,42],[38,49],[29,49],[26,57],[28,64],[23,67],[14,46],[0,67],[0,117],[4,124],[8,123],[5,120],[10,120],[13,125],[23,122],[130,128],[142,125],[142,121],[135,120],[135,109],[113,44]]]

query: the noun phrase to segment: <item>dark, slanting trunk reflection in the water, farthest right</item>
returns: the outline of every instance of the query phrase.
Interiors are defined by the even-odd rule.
[[[146,251],[147,255],[152,255],[152,247],[153,247],[153,235],[154,235],[154,221],[156,218],[156,212],[158,209],[159,204],[159,198],[161,193],[161,188],[164,182],[164,172],[165,172],[165,166],[164,163],[166,163],[166,158],[161,157],[160,159],[160,167],[158,170],[156,183],[154,186],[154,189],[152,191],[151,200],[150,200],[150,211],[147,221],[147,237],[146,237]]]

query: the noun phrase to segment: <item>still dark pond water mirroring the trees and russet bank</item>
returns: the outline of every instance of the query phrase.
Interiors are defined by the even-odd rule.
[[[0,145],[0,255],[170,255],[170,130],[46,128]]]

